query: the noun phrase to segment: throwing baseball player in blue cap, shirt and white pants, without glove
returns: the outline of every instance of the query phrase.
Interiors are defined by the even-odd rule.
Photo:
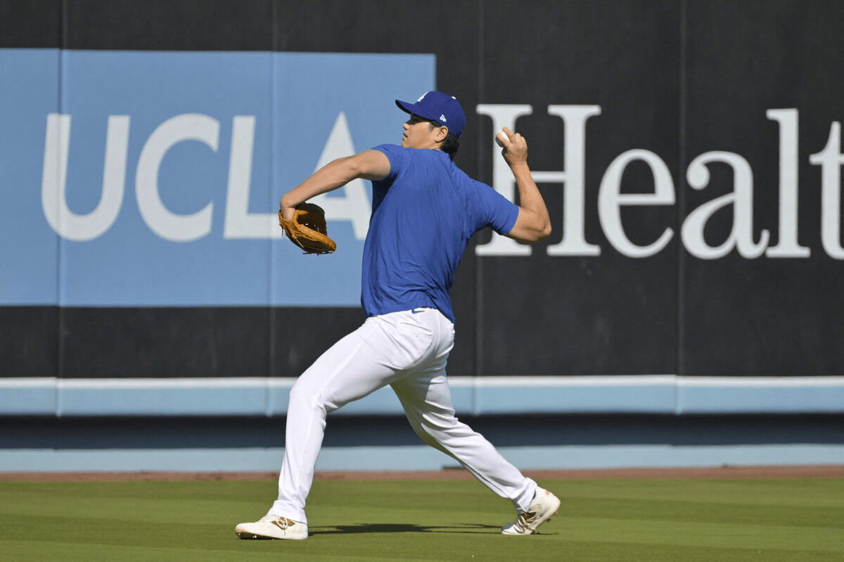
[[[507,535],[529,535],[560,500],[507,462],[457,420],[446,378],[454,342],[449,291],[469,238],[484,227],[523,243],[548,238],[548,210],[527,167],[527,142],[505,128],[498,137],[519,206],[468,177],[452,162],[466,125],[452,96],[431,91],[408,113],[401,146],[383,144],[318,169],[281,198],[280,215],[353,179],[372,182],[372,216],[363,253],[361,302],[367,318],[296,380],[290,390],[279,499],[260,521],[235,527],[240,538],[308,537],[306,499],[322,447],[326,415],[390,385],[414,431],[455,458],[495,494],[511,500]]]

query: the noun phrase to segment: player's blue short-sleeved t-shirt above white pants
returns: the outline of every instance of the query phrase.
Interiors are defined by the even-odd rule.
[[[449,292],[469,238],[484,227],[509,233],[518,207],[441,150],[375,150],[387,155],[390,174],[372,182],[360,302],[369,316],[432,307],[453,323]]]

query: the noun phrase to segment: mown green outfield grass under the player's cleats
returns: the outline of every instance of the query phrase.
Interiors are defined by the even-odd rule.
[[[844,561],[844,479],[540,484],[563,505],[531,537],[474,480],[317,480],[311,538],[244,541],[274,482],[2,482],[0,559]]]

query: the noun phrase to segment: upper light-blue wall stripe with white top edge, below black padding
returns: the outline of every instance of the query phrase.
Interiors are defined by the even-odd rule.
[[[295,379],[0,378],[0,415],[284,415]],[[844,413],[844,377],[452,377],[458,413]],[[389,388],[347,415],[401,414]]]

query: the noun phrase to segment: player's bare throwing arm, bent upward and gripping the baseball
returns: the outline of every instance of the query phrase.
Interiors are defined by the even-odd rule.
[[[501,139],[504,145],[501,155],[510,166],[519,191],[519,215],[506,236],[527,244],[542,242],[551,234],[551,219],[542,194],[527,167],[527,141],[508,127],[504,127],[503,132],[506,139]]]

